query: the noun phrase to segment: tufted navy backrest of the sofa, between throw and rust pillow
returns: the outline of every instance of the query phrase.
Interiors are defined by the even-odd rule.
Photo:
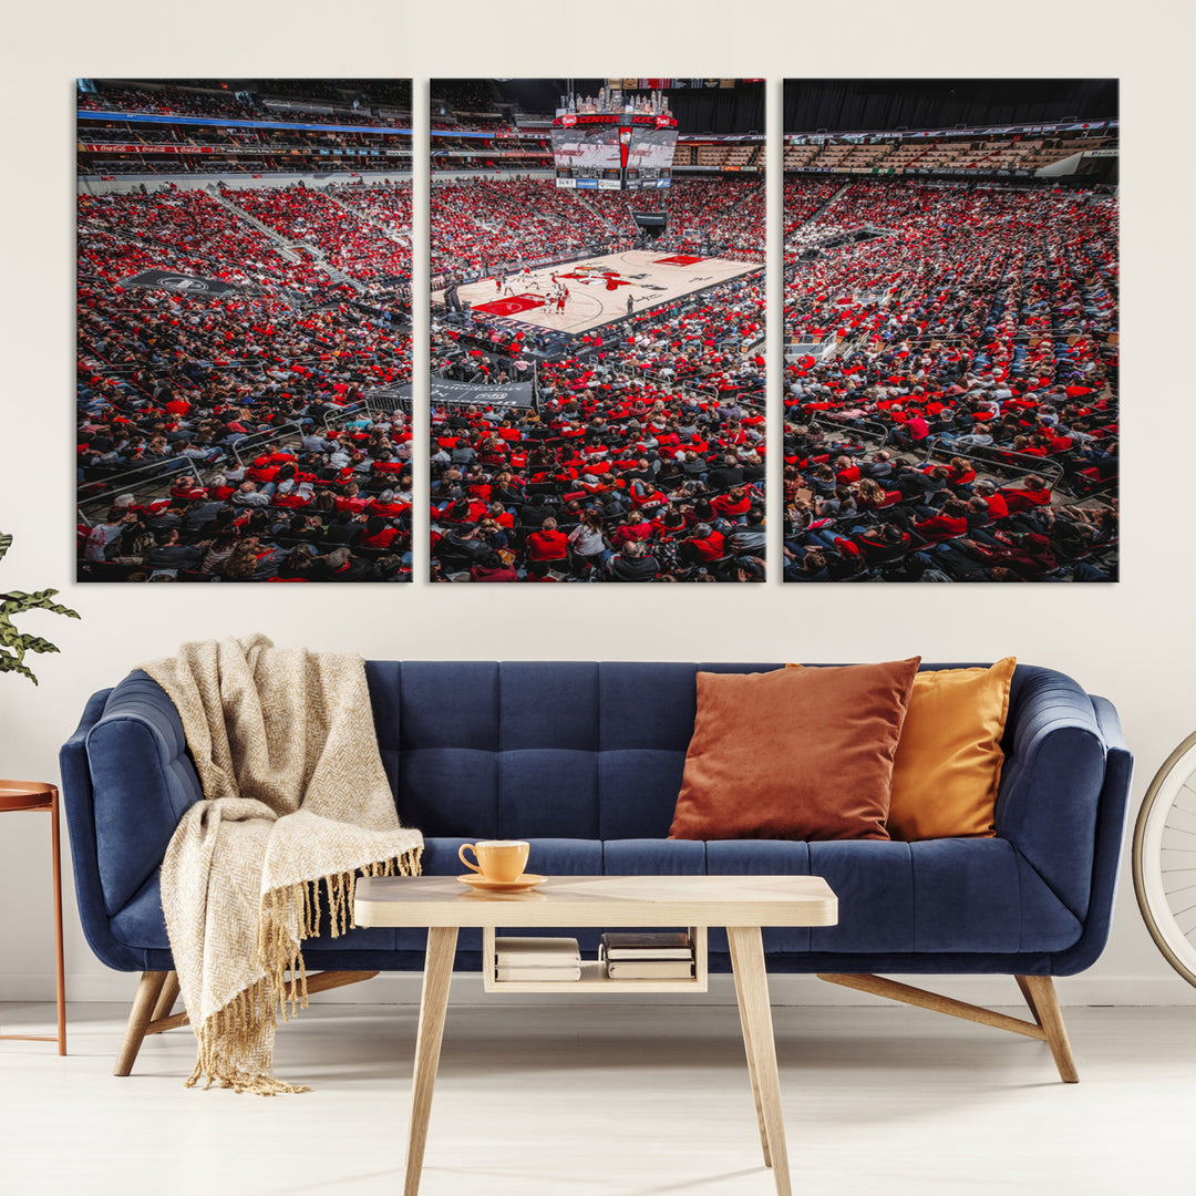
[[[664,838],[696,673],[780,665],[366,663],[383,763],[427,836]]]

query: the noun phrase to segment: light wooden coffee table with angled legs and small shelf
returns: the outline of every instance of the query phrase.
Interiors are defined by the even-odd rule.
[[[386,877],[358,880],[359,926],[426,926],[428,946],[415,1044],[411,1121],[404,1196],[416,1196],[428,1136],[432,1088],[440,1060],[457,932],[481,927],[487,988],[536,993],[682,993],[706,988],[706,928],[726,928],[736,978],[748,1073],[756,1100],[764,1165],[779,1196],[789,1196],[789,1164],[781,1119],[781,1086],[773,1042],[773,1009],[761,942],[763,926],[834,926],[838,902],[820,877],[553,877],[530,892],[481,893],[454,877]],[[688,926],[697,948],[692,980],[611,981],[584,966],[576,982],[509,982],[493,978],[494,932],[502,926]]]

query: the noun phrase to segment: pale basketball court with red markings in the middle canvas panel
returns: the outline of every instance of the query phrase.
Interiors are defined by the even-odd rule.
[[[630,249],[530,271],[514,270],[501,287],[495,286],[492,275],[458,287],[457,294],[478,316],[580,335],[626,317],[628,297],[633,312],[642,312],[761,269],[759,262]],[[565,310],[559,311],[553,295],[562,282],[569,293]],[[444,303],[444,291],[434,291],[432,300]]]

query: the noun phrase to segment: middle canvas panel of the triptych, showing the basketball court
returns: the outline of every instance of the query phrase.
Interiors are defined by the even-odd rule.
[[[433,580],[762,581],[763,87],[569,83],[432,84]],[[616,111],[667,185],[554,171]]]

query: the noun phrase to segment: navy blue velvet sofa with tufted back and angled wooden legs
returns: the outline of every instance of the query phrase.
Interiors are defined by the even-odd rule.
[[[1015,976],[1035,1015],[1023,1032],[1057,1046],[1036,1033],[1057,1023],[1062,1035],[1050,977],[1090,966],[1109,933],[1131,770],[1113,707],[1058,672],[1018,665],[995,838],[666,838],[695,673],[777,667],[379,660],[366,672],[399,816],[426,838],[426,873],[460,873],[464,842],[520,837],[532,843],[530,869],[545,874],[818,874],[838,895],[838,925],[765,930],[771,971],[818,972],[978,1020],[971,1006],[872,974]],[[172,968],[159,866],[201,797],[199,777],[175,708],[142,672],[93,695],[61,769],[87,941],[110,968],[144,974],[135,1056],[138,1025],[152,1031],[170,1012],[158,978]],[[598,932],[562,929],[596,947]],[[459,941],[457,966],[477,970],[476,933]],[[419,970],[423,932],[358,928],[304,954],[309,970],[336,975]],[[730,970],[721,933],[710,935],[710,969]],[[1074,1078],[1064,1061],[1056,1049]],[[121,1074],[123,1064],[132,1056]]]

